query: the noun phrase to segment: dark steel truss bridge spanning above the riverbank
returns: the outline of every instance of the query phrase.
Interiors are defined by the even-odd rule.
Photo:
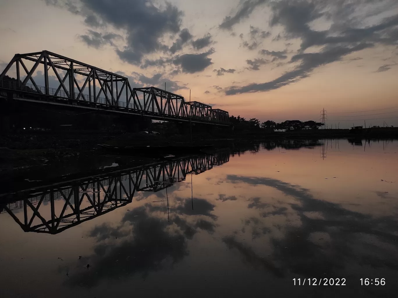
[[[44,86],[34,80],[38,71],[44,75]],[[49,76],[56,78],[57,88],[49,86]],[[229,115],[224,110],[201,102],[186,102],[178,94],[153,86],[131,88],[125,76],[49,51],[14,55],[0,74],[0,97],[111,110],[154,120],[229,125]]]

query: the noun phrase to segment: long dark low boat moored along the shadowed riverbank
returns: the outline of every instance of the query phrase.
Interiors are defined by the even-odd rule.
[[[180,153],[201,152],[204,149],[211,149],[213,145],[202,146],[153,146],[153,147],[133,147],[133,146],[111,146],[97,144],[109,153],[127,154],[127,155],[168,155]]]

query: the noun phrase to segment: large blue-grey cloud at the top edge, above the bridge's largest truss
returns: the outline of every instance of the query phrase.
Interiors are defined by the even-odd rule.
[[[103,23],[125,30],[127,45],[116,53],[121,60],[134,65],[140,65],[147,54],[168,50],[162,39],[180,32],[183,16],[169,2],[159,6],[152,0],[46,0],[46,3],[85,16],[89,25]]]

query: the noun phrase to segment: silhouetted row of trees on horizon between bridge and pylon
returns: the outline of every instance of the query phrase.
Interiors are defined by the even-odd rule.
[[[271,131],[289,131],[289,130],[302,130],[302,129],[318,129],[323,124],[321,122],[315,122],[312,120],[309,121],[300,121],[300,120],[286,120],[281,123],[276,123],[272,120],[267,120],[262,123],[257,118],[251,118],[246,120],[243,117],[229,117],[230,122],[234,125],[236,129],[244,130],[244,129],[265,129]]]

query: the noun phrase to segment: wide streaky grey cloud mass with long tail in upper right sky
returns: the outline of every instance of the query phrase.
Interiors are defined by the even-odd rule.
[[[341,61],[344,56],[366,48],[380,45],[396,45],[398,43],[398,15],[384,18],[375,25],[367,25],[367,15],[357,14],[358,5],[376,5],[373,2],[342,1],[331,4],[328,1],[282,0],[271,2],[270,25],[282,26],[283,32],[274,39],[287,41],[300,39],[300,49],[289,63],[299,63],[293,70],[269,82],[253,83],[247,86],[231,86],[226,95],[246,92],[264,92],[281,88],[302,78],[310,76],[314,69]],[[385,1],[384,8],[396,8],[394,1]],[[369,7],[368,7],[369,8]],[[371,11],[369,9],[368,11]],[[356,15],[355,15],[356,14]],[[371,13],[371,15],[373,15]],[[310,26],[312,21],[324,17],[332,23],[328,30],[315,31]],[[317,52],[304,53],[312,46],[321,46]],[[265,50],[264,53],[268,52]],[[272,52],[269,52],[272,53]],[[276,57],[276,56],[275,56]],[[275,60],[274,60],[275,61]],[[254,63],[254,61],[253,61]],[[256,65],[257,66],[257,65]],[[380,71],[390,66],[382,67]]]

